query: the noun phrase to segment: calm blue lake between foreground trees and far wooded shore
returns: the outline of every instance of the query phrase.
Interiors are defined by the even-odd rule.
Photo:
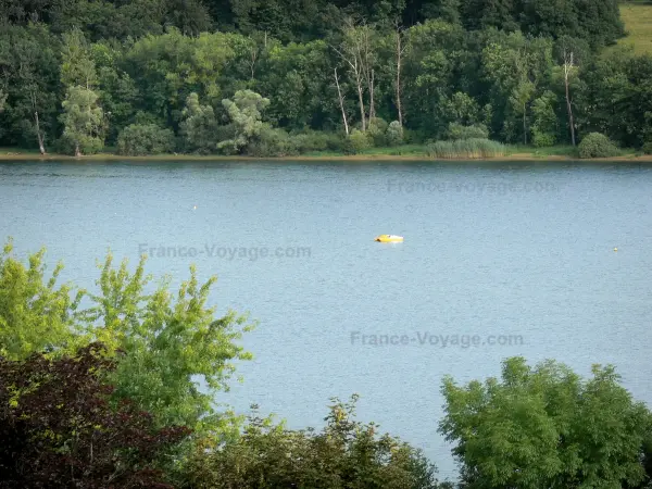
[[[440,478],[456,474],[437,434],[443,375],[498,375],[513,355],[582,375],[613,363],[652,401],[649,166],[0,162],[0,210],[3,242],[46,246],[79,286],[109,248],[134,265],[164,248],[148,271],[174,284],[190,263],[216,274],[218,312],[260,322],[220,402],[319,427],[329,398],[360,393],[359,417]]]

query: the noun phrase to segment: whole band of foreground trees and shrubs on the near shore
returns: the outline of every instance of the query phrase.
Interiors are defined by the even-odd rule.
[[[215,315],[215,278],[147,287],[109,254],[97,290],[59,284],[45,250],[0,254],[0,487],[109,489],[500,489],[649,487],[652,412],[613,366],[582,378],[505,359],[500,378],[441,381],[459,480],[331,399],[321,429],[288,429],[224,403],[247,315]],[[146,292],[149,290],[149,292]],[[197,378],[204,379],[199,390]],[[430,386],[437,388],[437,386]],[[264,406],[262,406],[264,409]]]

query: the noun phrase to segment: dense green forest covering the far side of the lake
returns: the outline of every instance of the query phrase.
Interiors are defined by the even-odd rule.
[[[0,24],[3,147],[652,149],[617,0],[0,0]]]

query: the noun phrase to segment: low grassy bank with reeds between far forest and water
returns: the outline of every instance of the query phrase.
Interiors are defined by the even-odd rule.
[[[532,148],[526,146],[504,146],[504,152],[494,156],[481,156],[481,153],[472,152],[432,152],[426,145],[405,145],[396,148],[371,148],[359,154],[343,154],[341,152],[319,151],[296,156],[283,158],[253,158],[253,156],[225,156],[225,155],[198,155],[198,154],[152,154],[148,156],[123,156],[113,152],[85,155],[82,158],[68,154],[48,153],[41,156],[38,151],[20,150],[15,148],[0,148],[0,161],[575,161],[579,160],[577,151],[572,146],[555,146],[551,148]],[[491,153],[489,153],[491,154]],[[601,160],[601,159],[598,159]],[[642,155],[634,150],[623,150],[622,155],[605,159],[607,161],[636,161],[651,162],[652,155]],[[586,160],[591,161],[591,160]]]

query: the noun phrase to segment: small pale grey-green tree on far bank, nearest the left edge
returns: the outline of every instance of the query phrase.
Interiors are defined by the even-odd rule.
[[[104,113],[97,104],[98,95],[80,86],[70,87],[63,101],[63,138],[72,145],[75,156],[97,152],[104,146]]]

